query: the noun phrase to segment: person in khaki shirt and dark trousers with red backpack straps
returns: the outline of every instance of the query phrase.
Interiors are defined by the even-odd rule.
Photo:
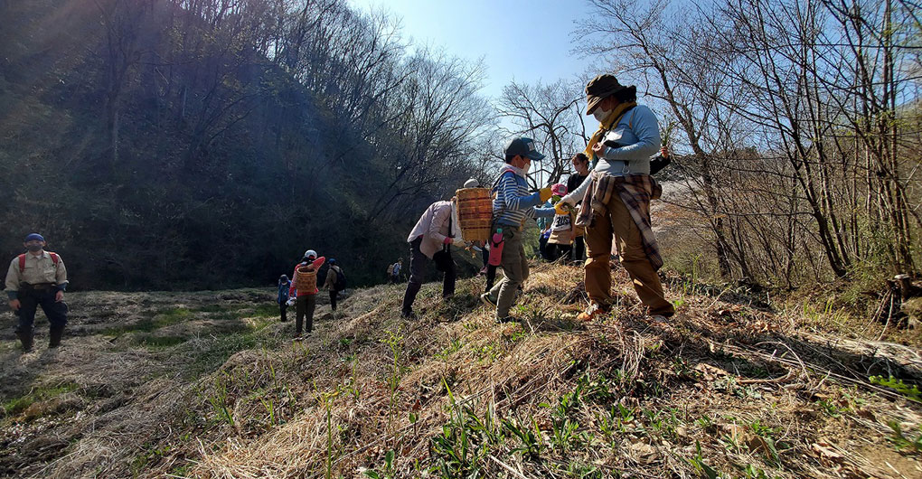
[[[67,270],[61,257],[44,251],[45,239],[38,233],[26,237],[23,246],[29,252],[18,255],[9,263],[6,272],[6,295],[9,307],[19,316],[17,335],[22,350],[32,350],[35,311],[41,305],[48,317],[51,333],[48,347],[61,345],[67,324],[67,304],[64,291],[67,287]]]

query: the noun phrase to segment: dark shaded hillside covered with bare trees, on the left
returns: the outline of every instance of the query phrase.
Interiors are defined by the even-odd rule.
[[[266,284],[309,248],[360,285],[491,152],[479,65],[341,0],[0,18],[0,251],[41,230],[79,288]]]

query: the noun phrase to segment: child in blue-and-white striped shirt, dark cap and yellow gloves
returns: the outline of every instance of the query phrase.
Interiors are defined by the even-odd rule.
[[[491,257],[499,254],[502,265],[502,281],[490,291],[480,295],[480,300],[496,309],[496,321],[515,321],[509,316],[516,290],[528,278],[528,259],[522,246],[522,224],[526,217],[554,216],[554,208],[538,208],[550,199],[550,188],[528,193],[526,174],[531,162],[540,161],[544,155],[535,149],[531,138],[517,137],[505,147],[506,164],[499,178],[493,184],[493,234],[502,235],[499,247],[493,249],[491,240]]]

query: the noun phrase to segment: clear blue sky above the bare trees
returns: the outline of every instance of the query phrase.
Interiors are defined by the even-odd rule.
[[[589,15],[583,0],[349,0],[363,9],[384,7],[403,18],[405,38],[444,47],[469,60],[483,58],[481,92],[497,98],[512,80],[533,84],[582,77],[588,61],[572,53],[577,21]]]

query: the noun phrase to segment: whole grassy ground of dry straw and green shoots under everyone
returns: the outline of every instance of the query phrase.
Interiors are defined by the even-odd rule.
[[[922,444],[897,450],[887,426],[911,442],[922,407],[867,381],[918,379],[917,349],[681,283],[678,317],[651,326],[623,275],[617,320],[578,324],[579,275],[535,268],[523,323],[505,325],[479,280],[447,302],[425,286],[420,321],[399,318],[401,286],[376,286],[336,317],[320,306],[297,343],[266,291],[74,295],[60,351],[20,356],[6,337],[0,473],[922,474]]]

